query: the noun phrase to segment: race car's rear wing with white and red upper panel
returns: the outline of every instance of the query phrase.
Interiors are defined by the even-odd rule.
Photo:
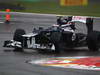
[[[85,23],[87,27],[87,34],[93,31],[93,18],[85,16],[68,16],[68,21]]]

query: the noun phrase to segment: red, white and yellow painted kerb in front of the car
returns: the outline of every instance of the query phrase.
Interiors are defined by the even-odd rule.
[[[42,66],[100,71],[100,57],[57,57],[29,61],[29,63]]]

